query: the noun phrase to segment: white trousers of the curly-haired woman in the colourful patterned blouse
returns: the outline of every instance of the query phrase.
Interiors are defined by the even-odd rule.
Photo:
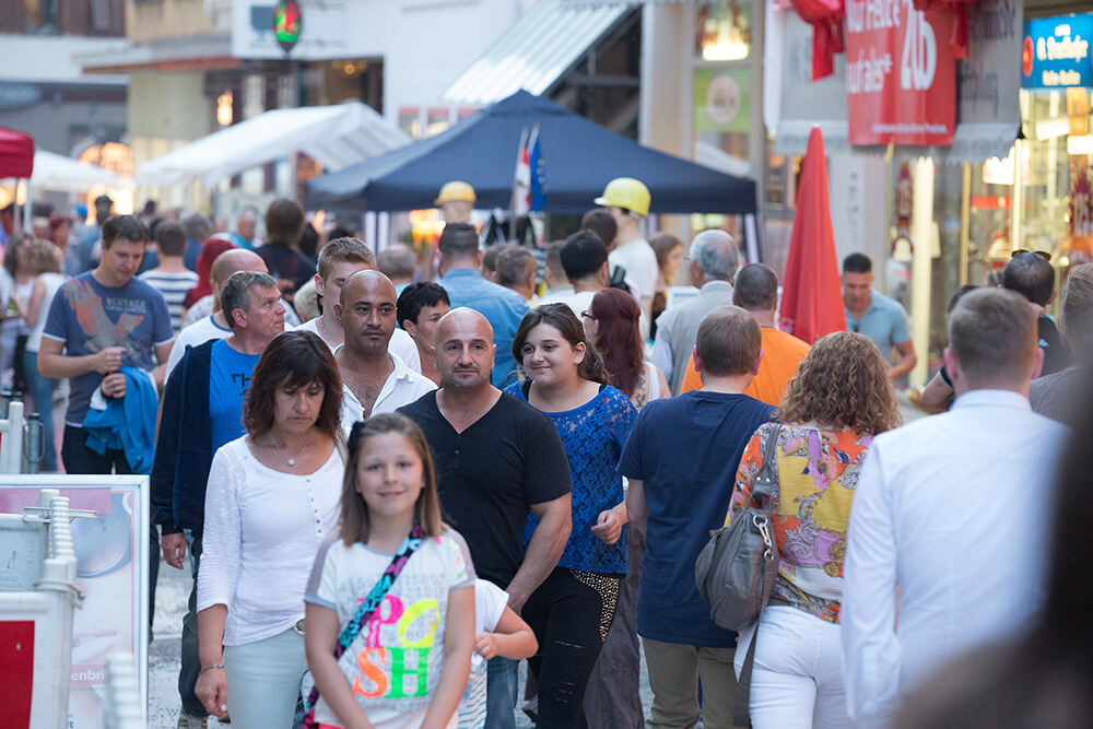
[[[740,634],[738,678],[754,634],[754,626]],[[839,626],[797,608],[767,605],[759,622],[750,709],[755,729],[853,727]]]

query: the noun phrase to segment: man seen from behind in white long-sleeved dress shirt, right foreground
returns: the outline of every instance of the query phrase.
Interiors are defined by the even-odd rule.
[[[842,638],[859,726],[888,726],[902,695],[965,650],[1031,626],[1044,598],[1067,430],[1029,407],[1044,360],[1036,317],[1010,291],[966,294],[944,360],[952,410],[877,436],[858,478]]]

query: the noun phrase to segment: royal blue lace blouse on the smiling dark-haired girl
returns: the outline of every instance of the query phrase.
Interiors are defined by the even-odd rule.
[[[514,383],[505,391],[527,402],[522,385]],[[622,537],[614,544],[604,544],[591,528],[600,512],[613,508],[623,499],[622,477],[615,469],[630,428],[637,419],[637,409],[622,390],[608,386],[579,408],[543,414],[551,419],[562,436],[573,474],[573,532],[559,566],[626,574],[628,528],[623,527]],[[538,524],[536,515],[529,514],[524,529],[525,548]]]

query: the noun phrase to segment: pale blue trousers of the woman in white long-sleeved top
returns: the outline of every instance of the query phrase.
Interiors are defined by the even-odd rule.
[[[304,636],[292,628],[256,643],[225,647],[233,729],[292,729],[299,680],[306,670]]]

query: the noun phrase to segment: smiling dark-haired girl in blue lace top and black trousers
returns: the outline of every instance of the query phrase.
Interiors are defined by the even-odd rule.
[[[539,682],[539,726],[580,727],[585,685],[626,574],[626,507],[615,469],[637,410],[608,385],[602,360],[565,304],[545,304],[525,316],[513,356],[529,379],[506,392],[550,416],[573,474],[569,541],[522,613],[540,646],[528,661]],[[525,545],[534,524],[529,516]]]

